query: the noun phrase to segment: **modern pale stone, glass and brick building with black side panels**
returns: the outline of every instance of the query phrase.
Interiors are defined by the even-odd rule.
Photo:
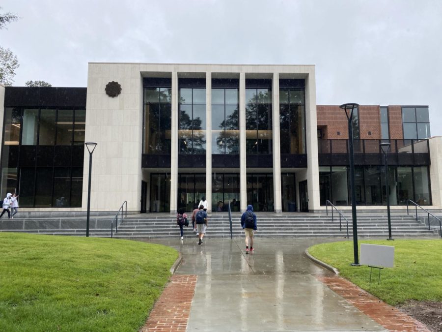
[[[316,105],[314,65],[89,63],[87,88],[0,87],[1,195],[29,211],[320,211],[351,205],[347,118]],[[348,100],[343,100],[347,102]],[[350,100],[354,101],[354,100]],[[357,102],[357,101],[356,101]],[[428,106],[360,106],[356,200],[440,209]]]

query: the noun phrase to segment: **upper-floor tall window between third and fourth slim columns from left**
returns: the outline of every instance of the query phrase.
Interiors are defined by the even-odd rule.
[[[246,153],[270,154],[272,153],[272,90],[271,88],[247,88],[247,81]]]

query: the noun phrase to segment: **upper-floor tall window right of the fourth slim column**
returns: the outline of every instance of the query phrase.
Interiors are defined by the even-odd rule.
[[[304,90],[279,89],[281,153],[305,153]]]

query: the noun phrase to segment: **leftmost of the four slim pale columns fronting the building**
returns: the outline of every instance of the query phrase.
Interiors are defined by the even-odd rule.
[[[170,147],[170,214],[176,214],[178,202],[178,73],[172,72],[172,119]]]

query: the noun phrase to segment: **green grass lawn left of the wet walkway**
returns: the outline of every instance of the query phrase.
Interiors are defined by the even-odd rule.
[[[137,331],[177,257],[137,241],[0,233],[0,331]]]

